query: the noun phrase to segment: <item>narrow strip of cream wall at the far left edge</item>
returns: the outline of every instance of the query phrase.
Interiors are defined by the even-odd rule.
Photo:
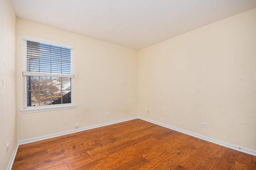
[[[7,168],[17,140],[15,110],[15,23],[8,0],[0,0],[0,169]],[[6,152],[6,145],[9,150]]]

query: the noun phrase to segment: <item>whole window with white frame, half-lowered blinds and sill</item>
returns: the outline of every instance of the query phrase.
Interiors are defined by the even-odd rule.
[[[75,108],[74,46],[23,35],[22,113]]]

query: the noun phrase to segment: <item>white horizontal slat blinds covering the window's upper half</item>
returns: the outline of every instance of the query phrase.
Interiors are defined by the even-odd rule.
[[[23,75],[74,78],[74,47],[56,44],[23,36]]]

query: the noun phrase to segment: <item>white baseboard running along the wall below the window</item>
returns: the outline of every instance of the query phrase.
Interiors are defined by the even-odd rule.
[[[124,122],[124,121],[133,120],[133,119],[138,119],[138,117],[130,117],[130,118],[121,119],[121,120],[118,120],[118,121],[111,121],[111,122],[102,123],[102,124],[99,124],[99,125],[82,127],[82,128],[73,129],[73,130],[70,130],[70,131],[64,131],[64,132],[60,132],[60,133],[54,133],[54,134],[51,134],[51,135],[45,135],[45,136],[42,136],[42,137],[35,137],[35,138],[30,138],[30,139],[24,139],[24,140],[18,141],[18,144],[19,145],[23,145],[23,144],[27,144],[27,143],[42,141],[44,139],[50,139],[50,138],[53,138],[53,137],[59,137],[59,136],[63,136],[63,135],[68,135],[68,134],[71,134],[71,133],[76,133],[76,132],[80,132],[80,131],[94,129],[94,128],[97,128],[97,127],[112,125],[112,124],[115,124],[115,123],[121,123],[121,122]]]

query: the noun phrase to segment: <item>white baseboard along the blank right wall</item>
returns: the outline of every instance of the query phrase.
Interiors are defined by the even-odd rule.
[[[256,156],[256,150],[252,150],[252,149],[248,149],[248,148],[244,148],[244,147],[240,147],[240,146],[237,146],[237,145],[233,145],[233,144],[230,144],[230,143],[226,143],[226,142],[223,142],[223,141],[219,141],[219,140],[216,140],[216,139],[212,139],[210,137],[206,137],[206,136],[203,136],[203,135],[199,135],[199,134],[196,134],[196,133],[193,133],[193,132],[190,132],[190,131],[186,131],[186,130],[183,130],[183,129],[179,129],[177,127],[173,127],[173,126],[170,126],[170,125],[166,125],[164,123],[160,123],[160,122],[157,122],[157,121],[153,121],[153,120],[150,120],[150,119],[146,119],[144,117],[138,117],[139,119],[142,119],[144,121],[148,121],[150,123],[154,123],[156,125],[160,125],[162,127],[166,127],[168,129],[172,129],[174,131],[178,131],[180,133],[184,133],[184,134],[187,134],[187,135],[190,135],[190,136],[193,136],[193,137],[196,137],[196,138],[199,138],[199,139],[203,139],[205,141],[208,141],[208,142],[211,142],[211,143],[215,143],[217,145],[221,145],[223,147],[227,147],[227,148],[230,148],[230,149],[234,149],[234,150],[238,150],[240,152],[244,152],[244,153],[247,153],[247,154],[251,154],[251,155],[254,155]]]

